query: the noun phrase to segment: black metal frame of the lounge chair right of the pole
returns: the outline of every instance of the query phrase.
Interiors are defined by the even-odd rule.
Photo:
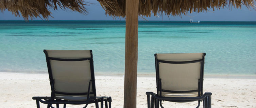
[[[192,61],[165,61],[158,60],[157,54],[155,54],[155,67],[156,67],[156,88],[157,94],[153,92],[146,92],[147,100],[148,100],[148,108],[164,108],[162,106],[162,101],[170,101],[170,102],[193,102],[198,101],[198,108],[200,106],[200,101],[203,101],[204,108],[211,108],[211,94],[210,92],[205,92],[203,94],[203,74],[204,74],[204,56],[203,59],[192,60]],[[172,91],[172,90],[164,90],[161,88],[161,79],[159,78],[159,63],[171,63],[171,64],[186,64],[186,63],[196,63],[201,62],[201,71],[200,71],[200,79],[198,80],[198,89],[197,90],[189,90],[189,91]],[[197,92],[199,97],[162,97],[161,92],[170,92],[170,93],[190,93]],[[150,103],[150,95],[151,95],[151,103]]]

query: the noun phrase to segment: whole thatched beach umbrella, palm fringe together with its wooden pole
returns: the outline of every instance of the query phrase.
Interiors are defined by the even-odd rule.
[[[222,7],[255,7],[256,0],[97,0],[113,17],[125,17],[125,78],[124,108],[136,108],[137,60],[138,60],[138,15],[154,16],[158,13],[181,16],[187,12],[202,12]],[[25,20],[51,16],[50,8],[69,8],[86,14],[83,0],[0,0],[0,10],[12,11]],[[41,18],[40,17],[40,18]]]

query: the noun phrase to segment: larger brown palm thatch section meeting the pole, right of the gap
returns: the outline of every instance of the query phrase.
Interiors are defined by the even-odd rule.
[[[110,16],[125,17],[125,1],[126,0],[98,0],[101,6],[106,10],[106,14]],[[187,12],[202,12],[209,8],[215,10],[222,7],[241,8],[241,5],[255,8],[256,0],[139,0],[139,15],[154,16],[157,14],[166,14],[172,16],[186,15]]]

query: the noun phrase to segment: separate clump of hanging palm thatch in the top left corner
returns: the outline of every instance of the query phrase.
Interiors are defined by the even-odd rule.
[[[50,9],[54,8],[55,10],[57,6],[61,9],[68,8],[86,14],[85,5],[83,0],[0,0],[2,12],[7,9],[13,12],[16,17],[20,17],[21,14],[25,20],[34,17],[48,19],[51,16]]]

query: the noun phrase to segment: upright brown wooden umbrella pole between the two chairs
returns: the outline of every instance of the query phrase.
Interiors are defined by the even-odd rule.
[[[138,0],[126,0],[124,108],[136,108],[138,8]]]

